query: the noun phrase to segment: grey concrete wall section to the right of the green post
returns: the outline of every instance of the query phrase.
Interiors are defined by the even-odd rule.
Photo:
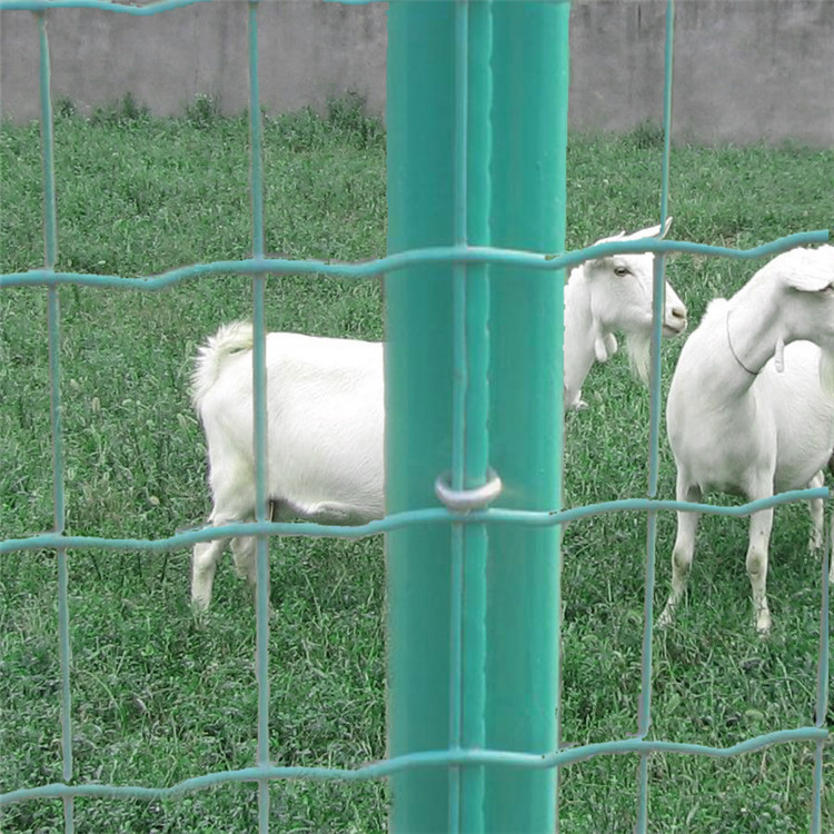
[[[574,6],[570,123],[661,123],[665,2]],[[673,135],[834,147],[833,0],[678,0]]]

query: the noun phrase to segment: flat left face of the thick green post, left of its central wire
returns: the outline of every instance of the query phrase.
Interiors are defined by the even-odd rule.
[[[431,56],[427,60],[427,56]],[[388,250],[454,239],[454,3],[388,10]],[[386,277],[386,508],[434,506],[451,461],[451,266]],[[449,743],[449,530],[388,534],[388,755]],[[395,832],[445,831],[443,768],[391,778]]]

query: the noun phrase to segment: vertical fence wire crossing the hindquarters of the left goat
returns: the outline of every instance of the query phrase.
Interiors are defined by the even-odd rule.
[[[249,0],[249,155],[252,211],[252,257],[264,258],[264,125],[260,113],[258,75],[258,6]],[[255,449],[255,513],[258,522],[269,518],[267,486],[267,375],[266,375],[266,282],[252,277],[252,426]],[[269,538],[256,539],[256,668],[258,683],[258,767],[269,766]],[[269,831],[269,780],[258,778],[258,830]]]

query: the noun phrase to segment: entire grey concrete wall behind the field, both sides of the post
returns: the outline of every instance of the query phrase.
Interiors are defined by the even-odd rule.
[[[665,0],[575,0],[570,125],[659,123]],[[385,107],[386,3],[260,7],[261,100],[271,112],[353,90]],[[54,98],[89,109],[130,91],[160,115],[198,95],[247,101],[246,4],[224,0],[148,18],[50,12]],[[429,59],[429,57],[427,57]],[[702,142],[834,146],[834,0],[678,0],[674,132]],[[38,116],[38,42],[29,12],[0,13],[0,106]]]

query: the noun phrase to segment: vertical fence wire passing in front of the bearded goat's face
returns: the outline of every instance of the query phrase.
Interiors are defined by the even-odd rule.
[[[669,203],[669,167],[672,156],[672,82],[675,37],[675,0],[666,0],[664,77],[663,77],[663,161],[661,173],[661,235],[665,232]],[[649,377],[648,428],[648,497],[657,497],[661,446],[661,347],[665,311],[666,256],[654,258],[652,296],[652,347]],[[646,576],[643,603],[643,646],[641,664],[641,695],[637,714],[637,737],[645,738],[652,724],[652,635],[654,625],[655,564],[657,552],[657,513],[648,510],[646,518]],[[648,826],[648,753],[641,753],[637,820],[635,830]]]

